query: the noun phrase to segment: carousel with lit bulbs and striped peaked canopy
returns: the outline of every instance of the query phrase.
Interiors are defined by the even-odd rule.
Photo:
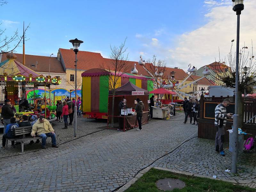
[[[46,100],[46,87],[51,85],[59,85],[60,77],[43,76],[25,65],[18,62],[17,56],[11,52],[6,54],[7,59],[0,63],[0,84],[3,88],[4,98],[9,99],[13,108],[16,109],[15,117],[21,119],[23,115],[44,116],[49,121],[55,120],[56,106],[51,106]],[[25,99],[26,86],[44,87],[43,102],[28,102]],[[21,89],[21,97],[19,97],[19,88]],[[36,98],[35,98],[36,101]],[[48,105],[47,105],[48,104]],[[1,109],[0,109],[1,110]],[[14,110],[15,112],[15,110]]]

